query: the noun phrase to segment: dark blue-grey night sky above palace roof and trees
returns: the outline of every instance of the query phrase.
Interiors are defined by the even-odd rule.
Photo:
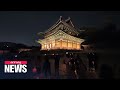
[[[60,16],[73,24],[100,28],[110,20],[120,28],[120,11],[0,11],[0,42],[39,45],[38,32],[46,31]]]

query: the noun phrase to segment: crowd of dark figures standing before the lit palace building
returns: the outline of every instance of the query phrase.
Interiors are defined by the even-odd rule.
[[[80,79],[85,78],[85,72],[87,71],[87,66],[83,63],[81,56],[79,53],[67,53],[67,54],[55,54],[52,55],[52,59],[54,60],[54,70],[55,70],[55,77],[60,78],[59,70],[60,70],[60,60],[62,59],[62,63],[65,66],[65,73],[67,79]],[[87,55],[89,60],[89,71],[95,71],[97,68],[97,58],[95,53],[88,53]],[[51,56],[45,55],[44,63],[41,69],[37,67],[33,68],[33,73],[38,73],[41,71],[42,76],[44,78],[53,78],[51,74],[51,64],[50,64]]]

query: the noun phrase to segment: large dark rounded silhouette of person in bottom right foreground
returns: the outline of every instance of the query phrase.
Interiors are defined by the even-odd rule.
[[[112,67],[107,64],[103,64],[100,68],[99,76],[101,79],[113,79]]]

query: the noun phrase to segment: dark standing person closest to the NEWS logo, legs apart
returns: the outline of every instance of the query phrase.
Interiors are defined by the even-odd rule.
[[[47,56],[46,56],[45,62],[43,64],[43,72],[45,74],[45,77],[51,76],[50,62],[49,62],[49,59]]]

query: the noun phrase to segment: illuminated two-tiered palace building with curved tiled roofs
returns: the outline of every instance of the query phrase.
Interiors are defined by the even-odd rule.
[[[41,50],[67,49],[80,50],[84,39],[78,38],[79,29],[76,29],[70,18],[59,20],[44,32],[44,38],[37,42],[42,45]]]

